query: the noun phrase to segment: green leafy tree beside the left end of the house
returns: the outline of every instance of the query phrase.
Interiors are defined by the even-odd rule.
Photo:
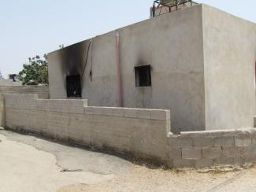
[[[24,85],[48,84],[48,61],[47,55],[43,59],[36,55],[28,58],[28,64],[23,65],[20,80]]]

